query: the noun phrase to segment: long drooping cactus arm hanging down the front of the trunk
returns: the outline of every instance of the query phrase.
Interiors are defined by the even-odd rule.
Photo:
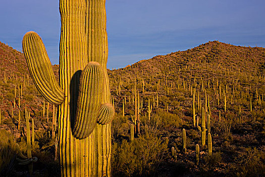
[[[87,138],[96,125],[103,82],[103,70],[99,63],[89,62],[81,74],[77,114],[74,120],[73,134],[78,139]]]

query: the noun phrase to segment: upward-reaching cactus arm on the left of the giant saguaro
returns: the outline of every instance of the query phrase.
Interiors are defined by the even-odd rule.
[[[41,95],[52,104],[64,101],[64,92],[60,88],[40,36],[33,31],[27,32],[22,41],[29,72]]]

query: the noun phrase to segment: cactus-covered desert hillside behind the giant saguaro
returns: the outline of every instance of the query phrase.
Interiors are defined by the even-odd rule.
[[[264,52],[211,41],[108,70],[112,175],[264,176]],[[0,58],[0,175],[60,176],[58,107],[22,53]]]

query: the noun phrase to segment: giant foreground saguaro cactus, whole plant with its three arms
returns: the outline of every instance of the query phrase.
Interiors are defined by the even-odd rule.
[[[105,0],[60,0],[60,13],[60,84],[37,33],[25,34],[23,51],[37,89],[59,105],[61,174],[111,176]]]

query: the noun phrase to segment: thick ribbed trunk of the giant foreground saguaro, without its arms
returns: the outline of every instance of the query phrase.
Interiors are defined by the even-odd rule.
[[[69,8],[71,6],[72,9]],[[88,62],[96,61],[101,65],[104,84],[103,92],[98,94],[103,93],[102,104],[110,103],[105,1],[61,0],[60,12],[60,83],[62,89],[67,91],[67,102],[59,108],[63,176],[111,176],[111,124],[96,124],[92,134],[83,140],[74,138],[71,132],[71,115],[76,113],[75,94],[78,93],[80,71]],[[69,105],[73,107],[70,109]]]

